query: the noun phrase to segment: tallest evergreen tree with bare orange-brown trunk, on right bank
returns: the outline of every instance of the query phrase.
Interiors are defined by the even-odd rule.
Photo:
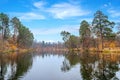
[[[94,14],[94,19],[92,21],[93,30],[99,38],[99,49],[103,49],[103,38],[107,36],[107,34],[112,32],[112,27],[114,26],[114,22],[110,22],[108,17],[102,13],[102,11],[97,11]]]

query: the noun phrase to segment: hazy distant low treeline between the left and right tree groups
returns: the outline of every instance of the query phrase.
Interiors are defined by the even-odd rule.
[[[32,45],[33,49],[37,52],[53,52],[53,51],[62,51],[65,46],[61,42],[37,42],[34,41]]]

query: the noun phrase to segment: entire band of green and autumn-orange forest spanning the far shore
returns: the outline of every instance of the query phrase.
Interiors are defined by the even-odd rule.
[[[33,33],[17,17],[9,18],[7,14],[0,13],[0,52],[29,48],[36,51],[120,51],[120,24],[110,21],[99,10],[92,22],[81,21],[79,36],[69,31],[61,31],[60,34],[64,43],[36,42]]]

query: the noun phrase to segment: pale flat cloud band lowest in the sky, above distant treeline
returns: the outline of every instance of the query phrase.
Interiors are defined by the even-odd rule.
[[[52,35],[52,34],[60,34],[61,31],[68,31],[70,33],[78,32],[79,25],[63,25],[61,27],[56,28],[40,28],[40,29],[31,29],[34,35]]]

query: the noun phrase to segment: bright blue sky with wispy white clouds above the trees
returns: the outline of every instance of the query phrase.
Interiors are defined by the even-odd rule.
[[[16,16],[37,41],[62,41],[60,32],[79,35],[82,20],[92,22],[97,10],[120,22],[120,0],[1,0],[0,12]]]

